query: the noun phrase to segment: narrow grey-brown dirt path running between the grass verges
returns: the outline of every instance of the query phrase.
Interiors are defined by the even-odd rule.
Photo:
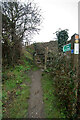
[[[41,70],[31,73],[31,90],[28,108],[28,118],[44,118],[43,96],[41,87]]]

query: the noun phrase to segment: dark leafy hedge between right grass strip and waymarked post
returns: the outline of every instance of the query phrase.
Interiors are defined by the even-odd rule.
[[[68,65],[66,66],[66,64]],[[48,68],[49,67],[49,68]],[[54,95],[59,102],[57,107],[67,118],[73,117],[73,104],[75,99],[75,71],[72,69],[71,60],[65,60],[64,55],[54,55],[53,63],[47,66],[53,76]]]

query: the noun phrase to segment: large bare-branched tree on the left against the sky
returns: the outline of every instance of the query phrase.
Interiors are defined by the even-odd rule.
[[[3,58],[16,62],[20,58],[22,42],[40,30],[40,9],[27,1],[2,2]]]

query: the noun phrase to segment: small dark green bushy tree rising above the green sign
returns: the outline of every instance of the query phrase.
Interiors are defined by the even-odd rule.
[[[63,49],[63,45],[66,44],[69,36],[68,36],[68,30],[60,30],[60,31],[57,31],[56,32],[56,36],[57,36],[57,39],[58,39],[58,49],[59,51],[62,51]]]

